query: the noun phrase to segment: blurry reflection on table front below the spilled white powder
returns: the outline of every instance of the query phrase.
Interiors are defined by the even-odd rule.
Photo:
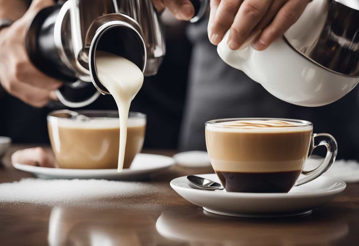
[[[168,241],[156,232],[155,219],[140,211],[51,209],[48,228],[51,246],[139,246]]]

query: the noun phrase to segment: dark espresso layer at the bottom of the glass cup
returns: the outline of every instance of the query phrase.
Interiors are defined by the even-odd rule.
[[[215,172],[227,191],[254,193],[288,192],[301,173],[300,170],[272,173]]]

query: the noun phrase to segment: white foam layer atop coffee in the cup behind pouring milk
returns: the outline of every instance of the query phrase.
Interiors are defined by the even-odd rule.
[[[52,125],[57,124],[59,127],[67,128],[86,128],[86,129],[104,129],[104,128],[120,128],[118,118],[92,118],[87,120],[53,118],[49,119]],[[129,118],[128,127],[140,127],[146,124],[145,118]]]

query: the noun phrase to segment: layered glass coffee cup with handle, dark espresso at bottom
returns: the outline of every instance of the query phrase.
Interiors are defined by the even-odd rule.
[[[218,119],[206,122],[205,128],[212,167],[229,192],[288,192],[323,174],[337,154],[335,138],[313,134],[313,123],[305,120]],[[320,145],[327,148],[321,165],[303,170]],[[300,174],[303,177],[299,178]]]

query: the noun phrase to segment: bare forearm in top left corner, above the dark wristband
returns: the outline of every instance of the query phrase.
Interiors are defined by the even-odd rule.
[[[28,0],[0,0],[0,19],[19,19],[29,8],[30,2]]]

